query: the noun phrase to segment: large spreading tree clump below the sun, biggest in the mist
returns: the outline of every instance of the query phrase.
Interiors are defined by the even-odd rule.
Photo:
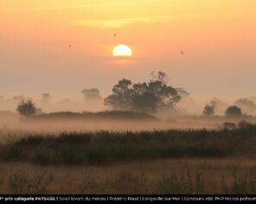
[[[105,105],[115,110],[155,113],[161,108],[174,109],[181,99],[178,90],[167,85],[165,73],[158,72],[149,83],[132,84],[131,80],[119,80]]]

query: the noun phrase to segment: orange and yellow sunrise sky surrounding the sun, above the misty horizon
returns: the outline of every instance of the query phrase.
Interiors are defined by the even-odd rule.
[[[68,97],[95,86],[106,95],[121,78],[162,70],[195,97],[253,96],[255,8],[255,0],[1,1],[0,94]],[[112,57],[119,43],[131,47],[129,61]]]

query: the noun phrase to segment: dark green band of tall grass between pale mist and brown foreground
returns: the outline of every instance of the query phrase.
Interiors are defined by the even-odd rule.
[[[0,161],[110,164],[161,158],[253,156],[256,126],[228,131],[63,132],[29,134],[1,144]]]

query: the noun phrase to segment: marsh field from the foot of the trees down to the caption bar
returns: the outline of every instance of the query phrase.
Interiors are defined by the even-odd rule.
[[[235,129],[132,112],[1,119],[1,194],[256,193],[254,118],[229,119]]]

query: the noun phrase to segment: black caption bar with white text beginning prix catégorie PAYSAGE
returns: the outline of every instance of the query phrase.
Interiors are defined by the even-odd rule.
[[[0,201],[256,201],[256,195],[0,195]]]

